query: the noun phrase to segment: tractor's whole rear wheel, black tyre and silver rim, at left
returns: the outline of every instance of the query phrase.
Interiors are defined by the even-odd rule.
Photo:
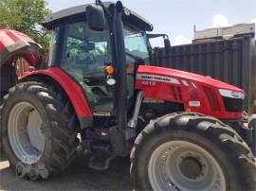
[[[1,106],[3,147],[19,176],[57,174],[78,146],[77,118],[62,90],[42,82],[19,83]]]

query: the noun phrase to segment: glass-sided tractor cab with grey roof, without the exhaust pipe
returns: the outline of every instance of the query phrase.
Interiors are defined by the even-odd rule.
[[[64,9],[46,18],[45,26],[52,31],[49,66],[60,66],[76,79],[94,115],[115,113],[113,99],[120,97],[119,87],[114,86],[117,82],[118,86],[125,86],[122,94],[127,97],[127,107],[133,103],[137,65],[149,64],[151,57],[145,31],[152,30],[153,26],[137,13],[123,9],[121,31],[117,34],[114,14],[115,4],[104,3]],[[115,41],[120,34],[124,47],[119,47],[121,42]],[[121,58],[125,62],[123,73],[118,58],[120,51],[125,54]],[[115,71],[108,74],[106,67]],[[116,70],[125,77],[127,85],[120,83]]]

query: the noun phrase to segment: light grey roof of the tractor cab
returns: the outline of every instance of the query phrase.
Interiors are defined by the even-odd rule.
[[[104,2],[103,4],[107,9],[113,9],[115,5],[115,3],[113,2]],[[44,23],[44,26],[46,26],[47,28],[51,28],[51,26],[54,26],[55,23],[61,20],[64,20],[67,17],[85,13],[85,10],[89,5],[90,4],[85,4],[85,5],[76,6],[68,9],[62,9],[57,12],[54,12],[46,16],[46,22]],[[128,10],[130,12],[129,15],[123,14],[124,21],[128,21],[132,25],[138,26],[142,30],[146,30],[146,31],[153,30],[153,25],[150,22],[148,22],[146,19],[138,15],[133,10],[131,9],[128,9]]]

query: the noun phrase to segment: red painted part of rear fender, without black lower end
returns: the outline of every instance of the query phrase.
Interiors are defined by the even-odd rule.
[[[73,104],[73,107],[78,117],[92,116],[82,87],[73,78],[70,78],[66,73],[64,73],[61,68],[52,67],[46,70],[27,72],[25,73],[25,76],[23,78],[27,78],[31,75],[46,75],[47,77],[55,79],[64,88],[64,91],[69,97],[71,103]]]

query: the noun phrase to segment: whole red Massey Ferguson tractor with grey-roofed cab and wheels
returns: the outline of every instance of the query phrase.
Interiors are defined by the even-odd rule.
[[[256,189],[243,90],[151,66],[149,38],[161,35],[121,2],[64,9],[44,26],[48,66],[25,72],[2,100],[4,151],[19,176],[60,173],[82,150],[101,170],[130,155],[138,190]]]

